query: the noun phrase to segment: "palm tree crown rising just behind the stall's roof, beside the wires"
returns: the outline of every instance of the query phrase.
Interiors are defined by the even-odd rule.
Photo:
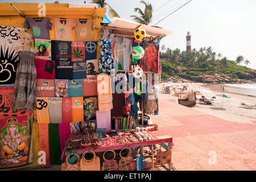
[[[137,15],[131,15],[130,17],[133,18],[133,20],[137,23],[142,23],[148,25],[151,22],[152,19],[152,12],[153,7],[150,3],[146,3],[144,1],[141,1],[145,5],[144,12],[139,9],[138,7],[135,7],[134,11],[139,13],[140,16]]]

